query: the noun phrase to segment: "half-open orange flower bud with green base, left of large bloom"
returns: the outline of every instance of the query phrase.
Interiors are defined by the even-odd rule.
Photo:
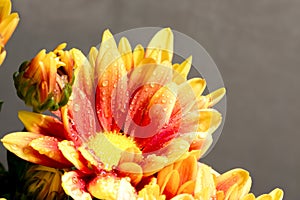
[[[41,50],[14,74],[18,96],[36,112],[57,110],[69,100],[77,65],[74,54],[79,50],[66,51],[65,47],[63,43],[53,52]]]

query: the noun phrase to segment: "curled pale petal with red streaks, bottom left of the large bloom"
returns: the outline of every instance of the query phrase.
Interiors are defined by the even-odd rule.
[[[79,171],[65,172],[61,180],[65,193],[74,200],[92,200],[85,189],[86,182],[83,180],[83,175]]]

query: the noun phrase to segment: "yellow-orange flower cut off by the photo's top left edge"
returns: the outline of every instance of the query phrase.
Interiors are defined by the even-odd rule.
[[[18,13],[11,13],[11,1],[0,0],[0,65],[6,56],[4,47],[15,31],[18,23]]]

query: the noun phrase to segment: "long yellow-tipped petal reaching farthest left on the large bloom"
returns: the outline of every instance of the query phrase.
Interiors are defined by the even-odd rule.
[[[4,136],[1,142],[7,150],[29,162],[54,168],[66,167],[66,165],[41,155],[38,151],[29,146],[32,140],[40,137],[43,137],[43,135],[31,132],[15,132]]]

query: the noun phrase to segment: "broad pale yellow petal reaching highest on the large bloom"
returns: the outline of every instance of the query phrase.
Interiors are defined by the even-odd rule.
[[[172,61],[173,58],[173,41],[174,36],[170,28],[164,28],[158,31],[151,39],[147,46],[145,57],[150,57],[153,51],[161,50],[161,59],[158,63],[164,60]]]

